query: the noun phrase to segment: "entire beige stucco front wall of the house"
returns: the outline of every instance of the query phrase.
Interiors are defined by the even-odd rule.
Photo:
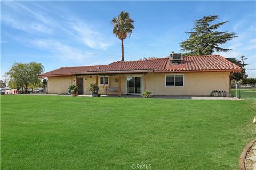
[[[121,92],[126,94],[126,77],[141,76],[142,77],[142,92],[146,90],[153,91],[153,95],[196,95],[209,96],[213,90],[221,90],[229,92],[229,74],[230,72],[197,72],[197,73],[177,73],[184,75],[184,86],[165,86],[165,73],[149,73],[146,74],[124,74],[121,75]],[[174,74],[175,75],[175,74]],[[103,92],[103,85],[100,85],[100,76],[87,75],[78,76],[84,80],[84,94],[90,94],[87,90],[90,83],[96,83],[100,87],[100,94]],[[118,82],[115,82],[118,75],[109,76],[108,87],[118,87]],[[146,79],[146,84],[145,84]],[[68,86],[72,83],[76,84],[76,77],[49,77],[48,92],[49,93],[67,93]],[[145,87],[146,86],[146,87]],[[107,92],[107,94],[117,94],[117,92]]]

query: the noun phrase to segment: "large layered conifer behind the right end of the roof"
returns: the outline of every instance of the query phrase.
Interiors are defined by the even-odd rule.
[[[194,21],[194,28],[192,29],[194,31],[186,32],[189,38],[180,43],[181,51],[187,52],[184,54],[185,56],[211,55],[213,52],[227,52],[231,50],[221,48],[220,45],[237,36],[235,33],[217,31],[216,29],[228,22],[211,24],[211,22],[217,19],[218,15],[210,15]]]

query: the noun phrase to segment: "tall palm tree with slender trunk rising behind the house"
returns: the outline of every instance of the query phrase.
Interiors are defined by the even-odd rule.
[[[134,29],[133,20],[130,18],[128,12],[122,11],[118,18],[114,17],[111,21],[113,28],[113,34],[121,40],[122,46],[122,60],[124,61],[124,39],[129,35],[131,36],[132,29]]]

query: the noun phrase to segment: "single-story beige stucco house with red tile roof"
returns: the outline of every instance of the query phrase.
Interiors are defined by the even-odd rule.
[[[220,55],[170,57],[138,61],[117,61],[109,65],[61,67],[43,73],[48,92],[67,94],[77,84],[78,94],[89,94],[90,83],[97,83],[101,94],[209,96],[213,90],[230,92],[230,74],[241,68]]]

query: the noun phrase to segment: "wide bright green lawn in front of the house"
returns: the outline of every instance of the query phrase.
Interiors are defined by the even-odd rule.
[[[239,169],[254,100],[1,96],[1,169]]]

